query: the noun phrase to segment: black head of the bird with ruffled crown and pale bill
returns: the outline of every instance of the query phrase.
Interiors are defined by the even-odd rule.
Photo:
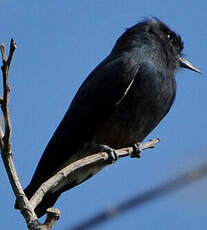
[[[145,19],[128,28],[118,39],[112,52],[127,51],[143,45],[150,47],[152,53],[154,50],[159,53],[166,65],[172,69],[182,67],[201,73],[183,57],[181,36],[157,18]]]

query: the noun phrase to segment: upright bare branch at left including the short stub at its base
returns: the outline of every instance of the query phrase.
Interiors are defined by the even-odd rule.
[[[3,98],[0,97],[1,110],[4,117],[4,130],[2,124],[0,124],[0,149],[1,156],[4,162],[4,166],[7,171],[12,189],[18,200],[18,204],[21,208],[21,212],[27,222],[27,226],[30,230],[49,230],[52,228],[53,224],[58,220],[58,212],[54,211],[48,213],[48,217],[44,224],[38,222],[38,218],[34,212],[34,208],[28,201],[22,185],[20,183],[14,161],[12,158],[12,143],[11,143],[11,133],[12,125],[10,119],[9,101],[10,101],[10,86],[9,86],[9,67],[12,61],[14,51],[16,49],[16,43],[11,39],[10,51],[7,59],[6,49],[4,44],[0,46],[1,56],[2,56],[2,74],[3,74]],[[5,131],[5,133],[4,133]]]

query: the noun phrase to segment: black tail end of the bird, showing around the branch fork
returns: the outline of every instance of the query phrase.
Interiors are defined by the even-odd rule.
[[[36,192],[36,189],[32,188],[30,185],[24,190],[25,195],[30,199],[33,194]],[[44,195],[42,201],[35,208],[35,213],[37,217],[41,217],[46,213],[46,210],[50,207],[53,207],[58,197],[61,195],[61,192],[57,191],[55,193],[47,193]],[[18,203],[15,203],[15,208],[19,209]]]

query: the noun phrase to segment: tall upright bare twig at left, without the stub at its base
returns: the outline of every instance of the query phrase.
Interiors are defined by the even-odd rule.
[[[12,144],[11,144],[11,119],[10,119],[10,111],[9,111],[9,101],[10,101],[10,87],[9,87],[9,67],[12,60],[13,53],[16,49],[16,45],[11,40],[9,58],[6,60],[6,51],[5,46],[2,44],[0,46],[1,55],[3,59],[3,64],[1,67],[3,74],[3,99],[1,101],[1,109],[4,116],[4,124],[5,124],[5,134],[3,132],[3,128],[0,129],[0,143],[1,143],[1,156],[4,162],[4,166],[6,168],[10,183],[12,185],[12,189],[16,195],[22,202],[24,203],[23,214],[29,225],[32,221],[36,220],[36,214],[32,209],[27,197],[25,196],[15,165],[12,158]]]

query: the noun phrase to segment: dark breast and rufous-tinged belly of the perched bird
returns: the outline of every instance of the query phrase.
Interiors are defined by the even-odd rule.
[[[127,95],[96,133],[95,141],[115,149],[143,141],[167,114],[175,94],[174,76],[137,76]]]

